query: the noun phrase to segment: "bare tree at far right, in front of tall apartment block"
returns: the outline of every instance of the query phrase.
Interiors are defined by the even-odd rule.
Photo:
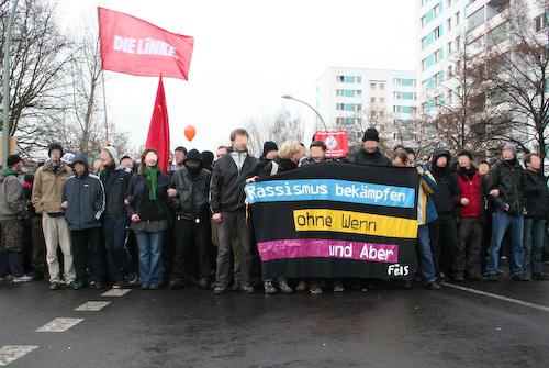
[[[492,42],[486,57],[486,78],[507,119],[498,121],[502,140],[512,141],[525,153],[546,156],[549,123],[549,33],[546,16],[549,1],[535,4],[540,14],[537,27],[524,0],[511,3],[506,22],[507,42]]]

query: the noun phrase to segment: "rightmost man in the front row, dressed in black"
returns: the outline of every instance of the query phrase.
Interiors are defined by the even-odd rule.
[[[546,233],[546,216],[549,212],[549,191],[547,178],[541,175],[541,157],[539,154],[528,154],[524,157],[524,185],[526,214],[524,220],[525,266],[531,252],[533,280],[549,280],[544,274],[542,253]]]

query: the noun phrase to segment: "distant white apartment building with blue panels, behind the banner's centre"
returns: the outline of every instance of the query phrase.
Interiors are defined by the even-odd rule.
[[[393,127],[413,123],[416,87],[413,70],[330,67],[316,80],[316,109],[328,129],[356,132],[350,140],[373,125],[389,141],[406,141]]]

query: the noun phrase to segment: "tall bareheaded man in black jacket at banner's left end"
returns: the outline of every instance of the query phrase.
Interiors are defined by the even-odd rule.
[[[210,204],[212,219],[220,224],[217,249],[216,286],[214,292],[221,294],[227,290],[231,269],[231,239],[236,231],[240,245],[240,287],[251,293],[250,279],[251,233],[246,223],[244,187],[246,180],[257,175],[259,160],[247,150],[248,132],[237,129],[231,133],[233,146],[228,155],[222,156],[212,172]]]

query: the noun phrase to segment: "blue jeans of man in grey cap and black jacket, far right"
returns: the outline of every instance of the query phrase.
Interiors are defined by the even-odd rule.
[[[492,214],[492,243],[488,252],[488,275],[495,275],[497,271],[500,266],[500,248],[502,246],[503,236],[508,227],[511,227],[513,275],[525,274],[523,248],[524,215],[513,215],[503,211],[497,211]]]

